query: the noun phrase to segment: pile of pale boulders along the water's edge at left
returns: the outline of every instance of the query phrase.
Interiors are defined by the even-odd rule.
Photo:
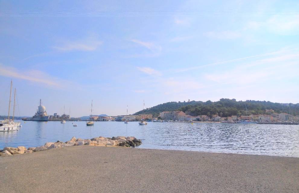
[[[5,147],[2,151],[0,150],[0,156],[11,156],[16,154],[26,154],[32,153],[36,151],[50,150],[55,148],[63,148],[67,146],[75,146],[75,145],[89,145],[89,146],[124,146],[124,147],[135,147],[141,145],[141,140],[136,139],[135,137],[95,137],[92,139],[76,139],[72,137],[71,140],[67,142],[46,142],[45,145],[39,147],[30,147],[25,148],[24,146],[19,146],[17,148],[13,147]]]

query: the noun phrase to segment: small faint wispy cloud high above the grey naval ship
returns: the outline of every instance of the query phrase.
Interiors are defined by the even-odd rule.
[[[102,42],[96,37],[88,37],[86,39],[74,41],[62,41],[60,45],[53,46],[58,51],[94,51]]]

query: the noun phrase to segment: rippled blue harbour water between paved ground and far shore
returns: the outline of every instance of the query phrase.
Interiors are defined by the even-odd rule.
[[[68,141],[104,136],[135,136],[142,139],[138,148],[259,154],[299,157],[299,125],[153,123],[84,121],[65,124],[59,121],[21,121],[18,131],[0,132],[0,149],[11,146],[36,147],[45,142]]]

